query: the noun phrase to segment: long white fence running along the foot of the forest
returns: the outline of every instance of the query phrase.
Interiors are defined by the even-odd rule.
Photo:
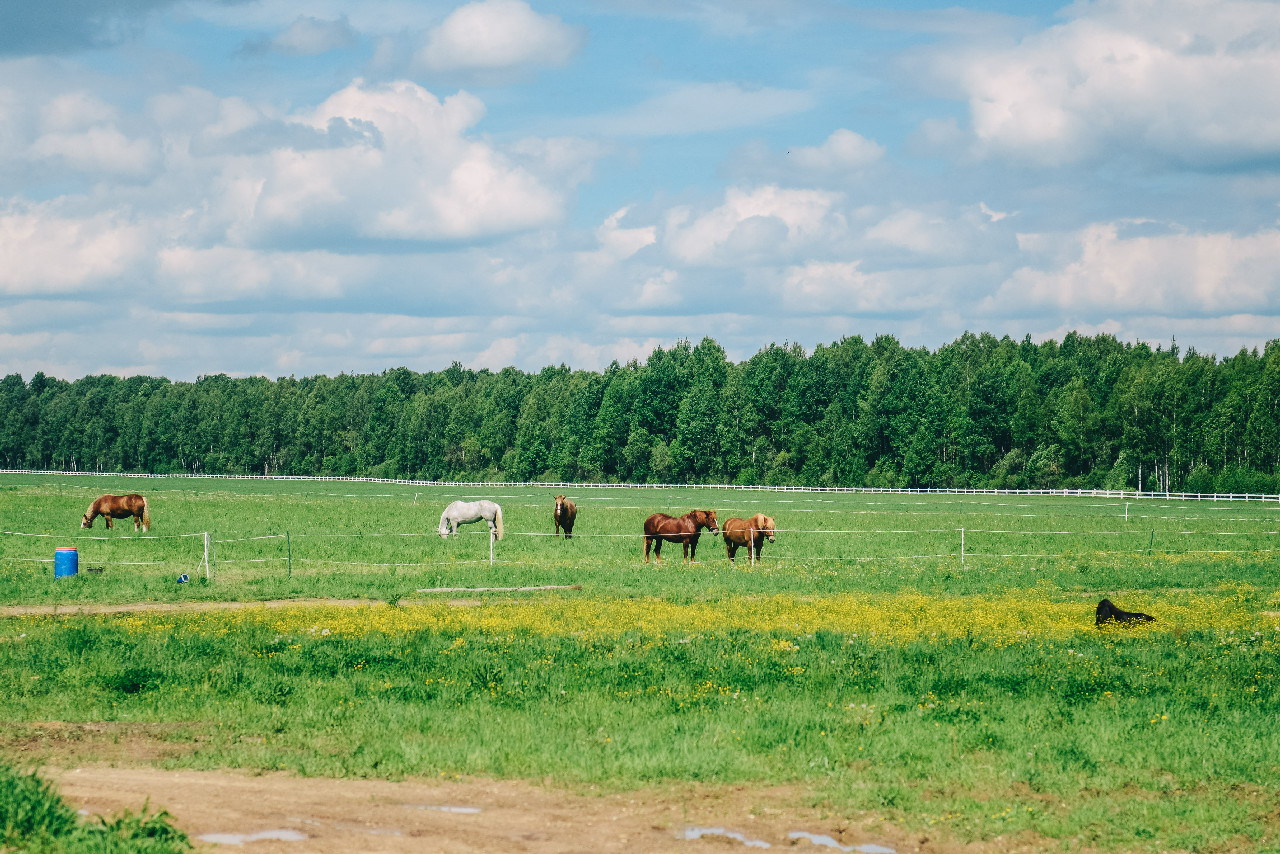
[[[132,471],[58,471],[52,469],[0,469],[0,474],[12,475],[68,475],[91,478],[191,478],[221,480],[264,480],[300,483],[380,483],[404,487],[484,487],[502,488],[547,488],[547,489],[733,489],[744,492],[796,492],[833,494],[900,494],[900,495],[1064,495],[1092,498],[1165,498],[1176,501],[1262,501],[1280,503],[1276,493],[1185,493],[1185,492],[1142,492],[1137,489],[959,489],[959,488],[891,488],[891,487],[796,487],[769,484],[628,484],[628,483],[579,483],[541,480],[402,480],[398,478],[355,478],[343,475],[211,475],[211,474],[148,474]],[[362,497],[362,495],[352,495]]]

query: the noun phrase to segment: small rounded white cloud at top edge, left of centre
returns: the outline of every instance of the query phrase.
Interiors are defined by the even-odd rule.
[[[481,0],[431,29],[417,63],[436,72],[492,72],[564,65],[582,41],[577,28],[540,15],[524,0]]]

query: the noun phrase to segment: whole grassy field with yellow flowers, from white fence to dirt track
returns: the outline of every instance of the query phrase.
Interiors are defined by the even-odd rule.
[[[77,539],[104,534],[78,529],[92,497],[136,490],[166,539]],[[0,620],[0,749],[108,721],[183,767],[791,784],[960,840],[1280,850],[1277,506],[581,489],[566,543],[529,535],[553,494],[0,476],[4,528],[55,535],[0,535],[5,604],[374,600]],[[503,504],[495,566],[435,535],[456,497]],[[644,566],[644,517],[694,507],[768,512],[778,542]],[[168,536],[206,530],[215,579],[175,584],[204,547]],[[285,531],[292,575],[250,539]],[[82,572],[55,581],[33,561],[67,544]],[[581,589],[416,593],[548,584]],[[1103,595],[1157,622],[1100,631]]]

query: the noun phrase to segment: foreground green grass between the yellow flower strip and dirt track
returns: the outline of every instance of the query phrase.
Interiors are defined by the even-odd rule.
[[[124,617],[0,621],[0,720],[174,722],[168,737],[191,749],[169,763],[186,767],[796,782],[837,810],[963,839],[1275,845],[1274,631],[1083,626],[1068,641],[895,645],[833,631],[280,635],[266,618],[161,618],[142,634]]]

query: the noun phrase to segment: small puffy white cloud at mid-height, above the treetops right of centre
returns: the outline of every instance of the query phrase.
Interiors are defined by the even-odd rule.
[[[695,219],[687,207],[669,211],[664,241],[672,255],[690,264],[736,265],[787,255],[845,232],[840,201],[838,193],[820,189],[730,188],[724,204]]]

